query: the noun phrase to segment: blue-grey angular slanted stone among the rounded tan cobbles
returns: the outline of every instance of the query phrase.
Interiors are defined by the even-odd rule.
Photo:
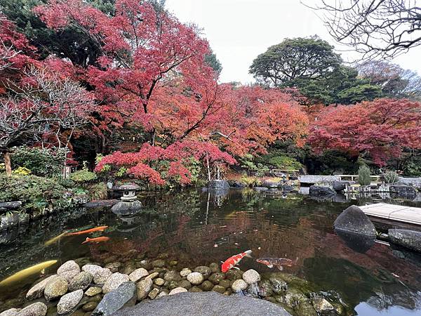
[[[92,316],[108,316],[123,307],[135,305],[136,284],[134,282],[124,282],[117,289],[105,294],[102,301],[92,312]]]

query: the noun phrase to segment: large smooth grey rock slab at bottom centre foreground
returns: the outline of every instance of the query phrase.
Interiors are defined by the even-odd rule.
[[[181,293],[164,296],[159,300],[144,301],[116,312],[114,316],[290,316],[280,306],[265,300],[247,296],[224,296],[216,292]]]

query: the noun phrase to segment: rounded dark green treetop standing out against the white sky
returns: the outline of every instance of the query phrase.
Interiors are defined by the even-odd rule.
[[[285,39],[258,55],[250,74],[267,86],[292,86],[296,79],[326,77],[342,62],[333,46],[319,37]]]

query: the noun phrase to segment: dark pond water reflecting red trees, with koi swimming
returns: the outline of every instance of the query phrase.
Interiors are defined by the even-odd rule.
[[[416,254],[382,243],[357,252],[333,231],[341,211],[365,201],[321,202],[298,193],[271,195],[248,189],[230,190],[224,196],[188,190],[140,199],[145,205],[142,212],[125,218],[109,209],[81,209],[3,232],[0,279],[52,260],[57,263],[42,272],[55,272],[76,258],[98,262],[109,256],[118,261],[128,252],[142,258],[166,254],[180,266],[194,267],[251,249],[253,259],[244,258],[241,270],[279,272],[255,259],[290,258],[294,264],[283,272],[306,279],[317,291],[338,293],[358,315],[421,314],[421,259]],[[103,225],[109,226],[102,234],[110,238],[108,242],[81,244],[86,235],[53,239],[65,231]],[[40,273],[0,287],[0,311],[22,305]]]

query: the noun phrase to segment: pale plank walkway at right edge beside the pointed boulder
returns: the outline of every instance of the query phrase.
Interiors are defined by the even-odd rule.
[[[359,206],[368,216],[421,225],[421,208],[386,203]]]

